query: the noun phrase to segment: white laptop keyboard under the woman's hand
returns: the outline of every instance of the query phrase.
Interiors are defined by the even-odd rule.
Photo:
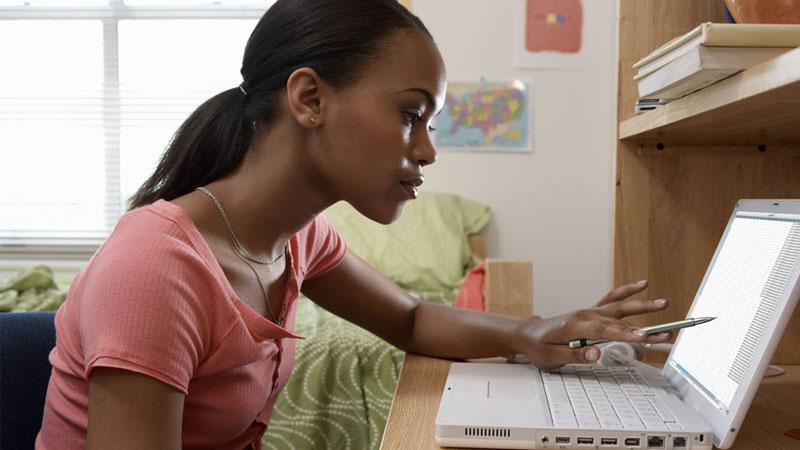
[[[683,429],[635,368],[564,366],[541,373],[556,427]]]

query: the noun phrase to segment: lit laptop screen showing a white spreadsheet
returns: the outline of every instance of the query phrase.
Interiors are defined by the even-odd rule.
[[[800,215],[737,211],[723,239],[689,311],[716,320],[682,330],[668,364],[728,415],[792,288]]]

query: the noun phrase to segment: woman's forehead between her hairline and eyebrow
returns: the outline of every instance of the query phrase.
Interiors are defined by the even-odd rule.
[[[377,58],[362,70],[358,90],[379,95],[429,92],[435,109],[441,108],[447,86],[444,62],[433,41],[415,31],[399,31],[387,37]],[[418,92],[418,91],[416,91]]]

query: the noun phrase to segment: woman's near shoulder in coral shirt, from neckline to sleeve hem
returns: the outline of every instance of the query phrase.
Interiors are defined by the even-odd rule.
[[[70,287],[66,314],[78,327],[85,376],[110,366],[185,390],[235,318],[183,220],[157,207],[125,214]]]

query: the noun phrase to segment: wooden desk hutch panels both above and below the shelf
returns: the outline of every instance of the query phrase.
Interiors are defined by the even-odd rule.
[[[637,98],[630,66],[703,21],[724,21],[721,1],[621,1],[619,120],[633,115]],[[683,137],[690,143],[663,150],[635,139],[617,145],[614,284],[647,278],[643,295],[672,302],[667,311],[633,319],[640,324],[685,316],[736,200],[800,197],[796,146],[770,145],[760,152],[755,146],[711,146],[703,136]],[[800,363],[800,312],[773,361]]]

